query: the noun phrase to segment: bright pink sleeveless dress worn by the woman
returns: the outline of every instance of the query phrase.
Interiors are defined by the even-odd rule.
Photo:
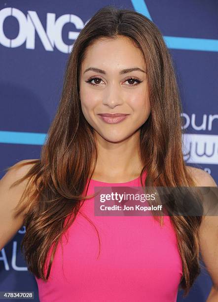
[[[116,184],[91,180],[88,194],[94,186],[141,185],[140,178]],[[182,259],[170,217],[161,227],[152,216],[95,216],[94,198],[80,212],[99,232],[99,258],[97,232],[78,213],[68,241],[63,236],[63,266],[59,243],[48,281],[36,278],[40,302],[177,301]]]

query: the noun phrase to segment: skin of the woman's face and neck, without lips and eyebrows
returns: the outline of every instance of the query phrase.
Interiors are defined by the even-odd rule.
[[[91,67],[105,74],[86,71]],[[119,74],[129,68],[140,70]],[[87,82],[95,76],[98,79]],[[137,178],[143,168],[140,127],[150,114],[146,64],[140,49],[128,38],[98,40],[86,52],[79,85],[82,112],[97,137],[99,157],[93,179],[123,183]],[[129,115],[120,123],[107,124],[98,113]]]

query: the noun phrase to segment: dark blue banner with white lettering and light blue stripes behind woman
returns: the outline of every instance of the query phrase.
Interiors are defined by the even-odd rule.
[[[90,5],[91,4],[91,5]],[[103,6],[143,13],[160,29],[172,54],[183,106],[188,165],[218,183],[218,2],[153,0],[0,0],[0,178],[17,161],[39,158],[56,112],[68,55],[80,30]],[[34,276],[20,251],[22,227],[0,251],[0,291],[31,291]],[[205,302],[205,269],[187,302]],[[182,291],[178,300],[182,299]]]

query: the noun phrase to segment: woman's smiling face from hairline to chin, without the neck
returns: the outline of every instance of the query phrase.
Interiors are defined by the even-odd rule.
[[[138,70],[128,71],[137,68]],[[86,50],[80,70],[80,100],[87,122],[109,142],[134,135],[150,114],[146,64],[131,39],[101,38]],[[116,120],[102,113],[123,113]]]

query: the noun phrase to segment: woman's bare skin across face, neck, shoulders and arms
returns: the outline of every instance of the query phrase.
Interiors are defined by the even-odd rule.
[[[89,70],[90,68],[96,70]],[[139,68],[132,72],[121,71]],[[97,70],[99,69],[99,70]],[[142,71],[141,71],[142,70]],[[104,73],[102,72],[104,71]],[[92,79],[98,77],[99,79]],[[134,79],[140,81],[137,82]],[[94,128],[97,138],[98,159],[93,179],[120,183],[139,176],[142,164],[139,157],[140,127],[150,114],[146,64],[140,50],[129,38],[101,38],[90,46],[80,71],[80,101],[82,112]],[[96,84],[96,85],[92,85]],[[128,113],[118,124],[107,124],[98,113]],[[0,180],[0,249],[23,226],[21,215],[12,218],[25,183],[9,190],[9,185],[25,175],[32,165],[7,172]],[[198,187],[217,187],[205,171],[187,167]],[[218,219],[202,218],[199,229],[200,250],[213,281],[207,302],[218,301]]]

